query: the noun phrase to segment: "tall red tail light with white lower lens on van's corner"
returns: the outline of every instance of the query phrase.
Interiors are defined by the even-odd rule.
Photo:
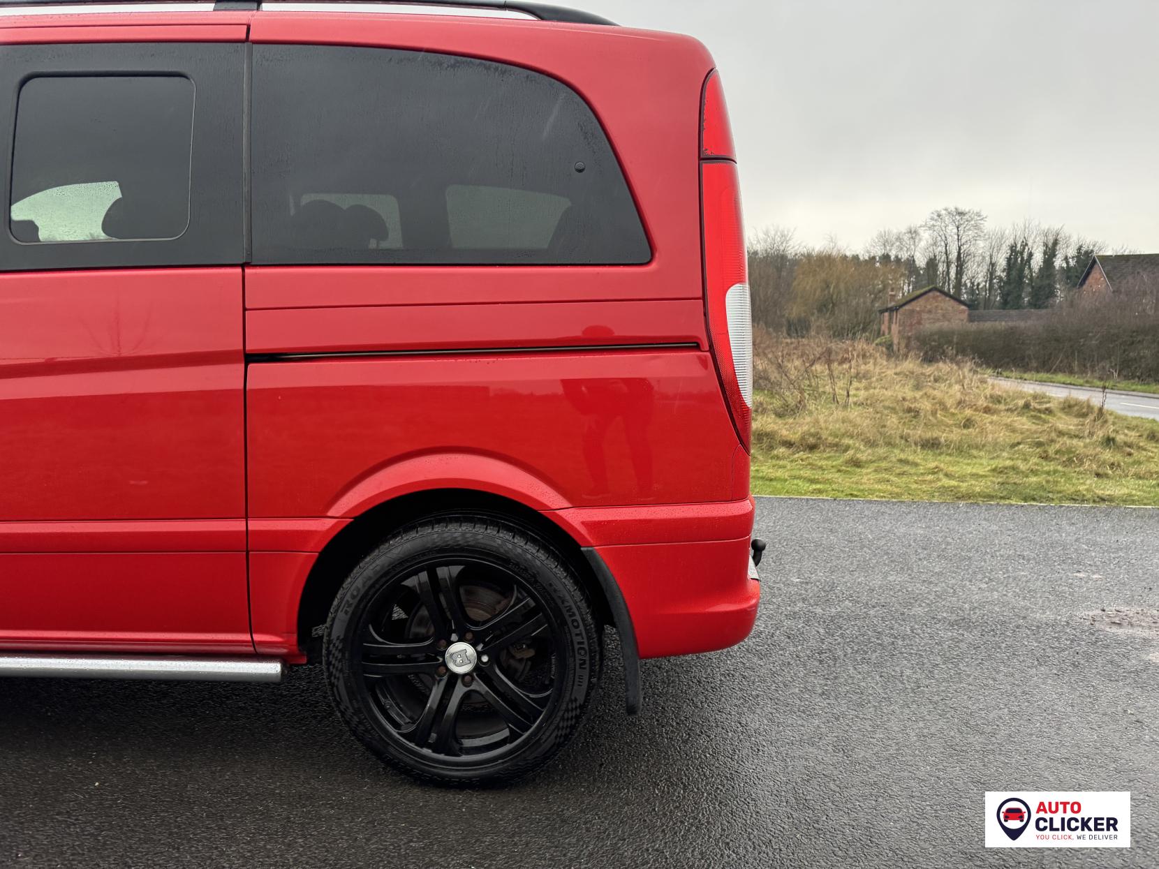
[[[752,309],[728,110],[713,73],[705,83],[700,163],[708,335],[732,424],[745,450],[752,432]]]

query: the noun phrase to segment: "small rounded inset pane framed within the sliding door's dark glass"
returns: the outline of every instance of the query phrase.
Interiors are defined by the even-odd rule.
[[[16,103],[10,228],[25,243],[176,239],[189,226],[194,85],[57,76]]]

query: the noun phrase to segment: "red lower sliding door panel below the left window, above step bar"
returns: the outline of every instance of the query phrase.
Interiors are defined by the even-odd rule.
[[[0,275],[0,642],[245,650],[241,269]]]

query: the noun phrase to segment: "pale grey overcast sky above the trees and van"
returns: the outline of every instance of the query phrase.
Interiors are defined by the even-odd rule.
[[[1159,251],[1159,0],[574,5],[713,52],[750,232],[860,249],[961,205]]]

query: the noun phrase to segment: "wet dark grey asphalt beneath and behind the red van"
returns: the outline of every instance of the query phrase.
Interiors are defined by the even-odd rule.
[[[758,527],[753,636],[647,662],[634,720],[610,666],[505,790],[384,769],[313,669],[0,682],[0,866],[1159,864],[1159,511],[761,498]],[[1007,788],[1130,790],[1134,847],[986,850]]]

